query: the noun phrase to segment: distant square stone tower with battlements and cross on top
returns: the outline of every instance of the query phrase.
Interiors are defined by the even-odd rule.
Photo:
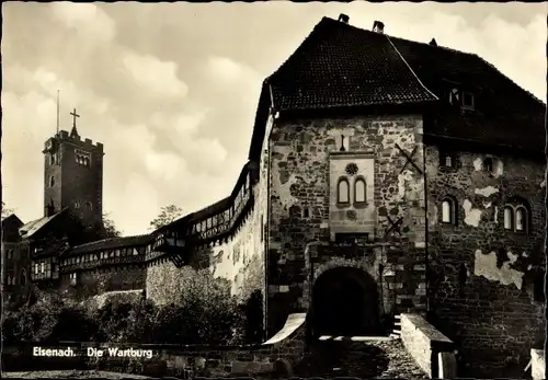
[[[45,142],[44,215],[68,207],[85,227],[101,226],[103,212],[103,145],[82,140],[76,126],[60,130]]]

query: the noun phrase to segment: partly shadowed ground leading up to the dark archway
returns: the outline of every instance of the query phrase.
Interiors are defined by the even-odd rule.
[[[296,376],[427,379],[399,339],[318,343]]]

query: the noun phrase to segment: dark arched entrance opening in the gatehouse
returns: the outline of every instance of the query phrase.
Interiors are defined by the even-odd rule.
[[[358,268],[338,267],[318,277],[312,288],[311,337],[366,336],[381,332],[378,291],[373,277]]]

